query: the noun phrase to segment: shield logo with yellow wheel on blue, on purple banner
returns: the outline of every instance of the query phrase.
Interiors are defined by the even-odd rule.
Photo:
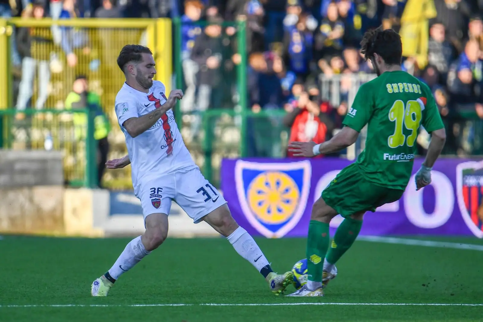
[[[239,160],[235,165],[238,200],[256,230],[279,238],[292,230],[307,205],[310,161],[258,163]]]

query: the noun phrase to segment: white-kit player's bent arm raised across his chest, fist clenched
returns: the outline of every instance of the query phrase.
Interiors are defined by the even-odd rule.
[[[161,105],[160,108],[141,117],[128,118],[123,126],[126,128],[130,136],[136,137],[150,129],[164,113],[173,108],[174,105],[176,105],[176,102],[182,98],[183,91],[181,89],[172,90],[168,100]]]

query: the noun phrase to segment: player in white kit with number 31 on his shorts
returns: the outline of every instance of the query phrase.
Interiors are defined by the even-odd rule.
[[[164,242],[172,200],[195,223],[206,221],[227,237],[240,256],[265,277],[270,290],[282,293],[293,274],[272,271],[253,237],[231,217],[227,202],[201,174],[183,142],[171,110],[183,92],[175,89],[166,97],[163,83],[153,81],[155,61],[147,47],[124,46],[117,64],[126,82],[117,93],[115,111],[126,136],[128,155],[107,161],[106,166],[118,169],[131,163],[132,185],[141,200],[146,231],[131,240],[114,265],[92,283],[92,296],[107,296],[124,272]]]

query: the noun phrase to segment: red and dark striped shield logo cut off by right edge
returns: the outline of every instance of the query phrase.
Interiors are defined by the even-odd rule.
[[[456,166],[456,195],[459,211],[469,230],[483,238],[483,161]]]

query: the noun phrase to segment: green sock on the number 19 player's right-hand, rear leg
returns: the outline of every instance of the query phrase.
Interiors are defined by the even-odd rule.
[[[354,244],[355,238],[361,231],[362,220],[346,218],[335,232],[332,245],[327,252],[327,262],[335,264],[342,255]]]

